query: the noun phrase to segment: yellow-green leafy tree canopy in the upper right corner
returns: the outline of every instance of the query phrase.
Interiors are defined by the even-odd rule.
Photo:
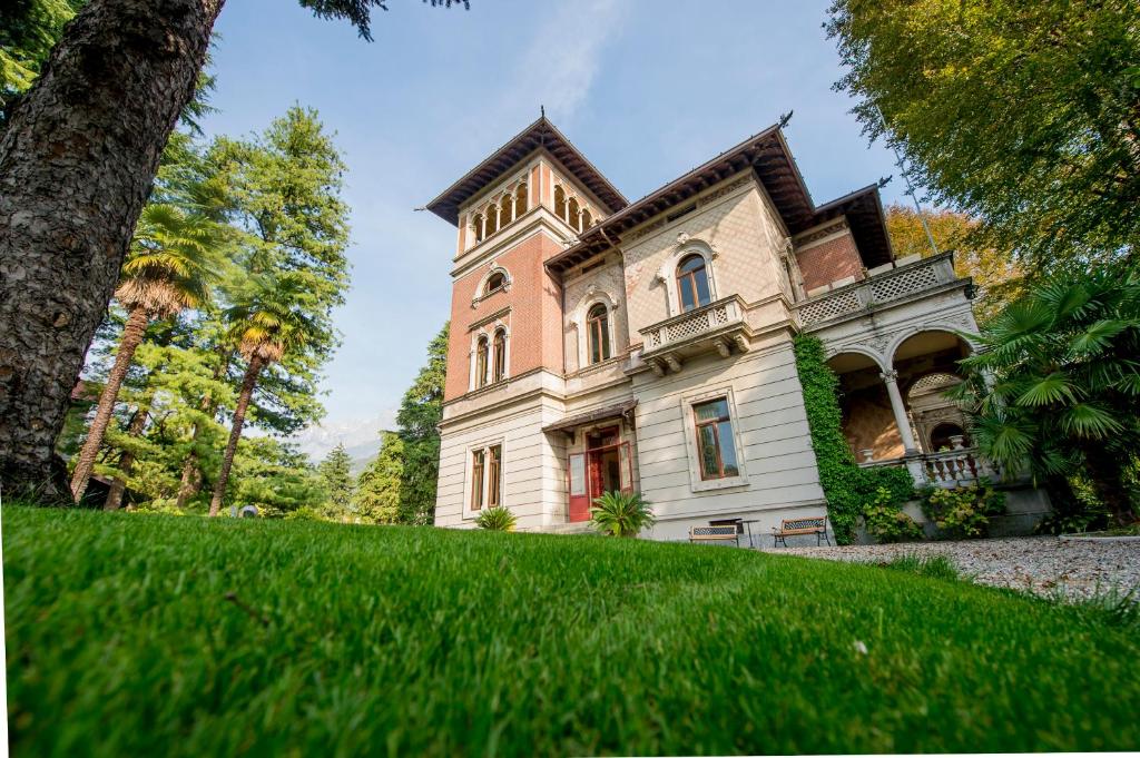
[[[1138,27],[1134,0],[834,0],[826,24],[837,89],[935,204],[1070,272],[1140,243]]]

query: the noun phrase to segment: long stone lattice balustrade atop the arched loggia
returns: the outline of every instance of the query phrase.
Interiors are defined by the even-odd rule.
[[[831,292],[815,295],[796,305],[800,324],[806,326],[855,316],[877,307],[907,300],[958,282],[953,253],[931,255],[915,262],[888,263],[871,269],[869,277]]]

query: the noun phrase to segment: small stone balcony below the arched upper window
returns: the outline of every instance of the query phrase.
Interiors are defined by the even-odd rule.
[[[716,351],[727,358],[748,351],[744,301],[739,295],[714,300],[691,311],[641,329],[642,360],[658,376],[681,370],[686,357]]]

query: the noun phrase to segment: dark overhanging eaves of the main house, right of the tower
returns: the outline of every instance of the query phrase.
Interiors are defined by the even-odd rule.
[[[546,266],[552,271],[565,271],[578,266],[619,243],[622,233],[749,166],[755,170],[792,235],[846,213],[864,264],[871,268],[891,259],[878,186],[872,185],[816,206],[780,127],[772,125],[604,219],[583,233],[577,244],[548,260]]]

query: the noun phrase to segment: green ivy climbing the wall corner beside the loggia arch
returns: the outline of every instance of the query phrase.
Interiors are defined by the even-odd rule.
[[[914,497],[914,482],[902,466],[861,468],[856,464],[855,454],[844,437],[837,393],[839,377],[828,366],[823,343],[801,334],[796,337],[795,352],[820,484],[828,499],[828,519],[836,541],[849,545],[858,519],[876,503],[880,487],[890,494],[891,504],[897,506]]]

